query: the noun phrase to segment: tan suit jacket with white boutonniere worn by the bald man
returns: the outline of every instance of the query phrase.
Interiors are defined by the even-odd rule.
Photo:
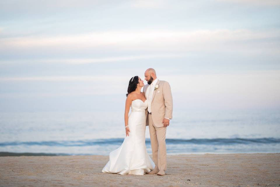
[[[157,80],[158,88],[154,90],[151,102],[151,113],[153,123],[156,127],[163,127],[162,120],[164,117],[172,119],[173,99],[171,88],[168,82]],[[146,96],[146,91],[149,84],[146,84],[143,91]],[[146,109],[146,116],[148,115],[148,108]],[[148,126],[148,117],[146,117],[146,126]]]

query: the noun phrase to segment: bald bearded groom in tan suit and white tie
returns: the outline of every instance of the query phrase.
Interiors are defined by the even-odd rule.
[[[146,126],[149,126],[153,161],[155,168],[147,174],[163,176],[166,170],[166,128],[172,119],[173,101],[171,88],[168,82],[160,81],[153,68],[145,71],[145,97],[148,100]]]

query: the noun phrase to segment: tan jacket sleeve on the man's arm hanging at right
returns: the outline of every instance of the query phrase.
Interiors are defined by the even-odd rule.
[[[162,93],[163,93],[164,105],[165,105],[164,118],[172,119],[173,99],[172,99],[170,84],[168,82],[164,82]]]

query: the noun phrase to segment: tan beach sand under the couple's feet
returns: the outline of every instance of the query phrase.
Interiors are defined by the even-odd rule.
[[[102,173],[108,156],[0,157],[0,186],[279,186],[280,153],[168,155],[165,176]]]

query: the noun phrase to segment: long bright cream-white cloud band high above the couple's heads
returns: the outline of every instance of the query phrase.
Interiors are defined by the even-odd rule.
[[[117,49],[150,51],[239,51],[279,53],[279,30],[112,31],[53,37],[2,38],[0,50]]]

